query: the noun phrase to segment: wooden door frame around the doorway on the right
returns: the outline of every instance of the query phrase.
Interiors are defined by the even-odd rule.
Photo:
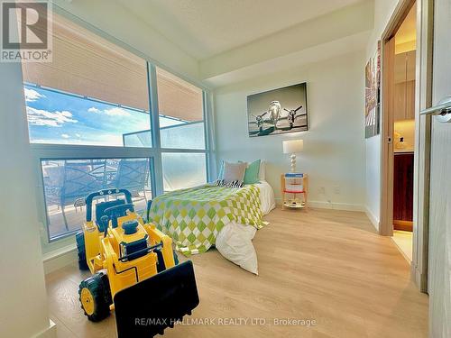
[[[381,37],[382,58],[382,114],[381,114],[381,215],[379,233],[393,234],[393,123],[391,93],[393,59],[389,41],[409,13],[415,0],[401,0]],[[415,152],[413,192],[413,252],[411,277],[422,292],[428,291],[428,215],[429,215],[429,165],[430,116],[419,111],[431,105],[432,98],[432,47],[434,1],[417,0],[417,52],[415,85]]]

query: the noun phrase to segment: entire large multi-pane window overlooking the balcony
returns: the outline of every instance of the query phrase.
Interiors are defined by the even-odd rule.
[[[44,242],[73,242],[93,191],[129,189],[143,210],[207,181],[201,88],[57,14],[52,34],[53,61],[23,63]]]

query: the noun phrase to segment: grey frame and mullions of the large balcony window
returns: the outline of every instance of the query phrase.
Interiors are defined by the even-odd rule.
[[[147,86],[150,101],[149,117],[151,119],[152,147],[141,148],[130,146],[118,147],[99,145],[30,143],[33,167],[35,168],[34,178],[35,182],[37,182],[35,189],[35,199],[38,207],[38,220],[40,222],[41,231],[41,245],[44,254],[51,251],[63,249],[65,247],[73,247],[75,238],[73,236],[73,233],[66,233],[52,239],[50,237],[41,160],[148,158],[150,159],[151,166],[150,175],[152,184],[152,196],[159,196],[164,192],[161,160],[161,154],[163,152],[205,153],[207,173],[206,181],[212,181],[214,179],[214,173],[216,173],[216,153],[214,149],[214,126],[212,114],[213,102],[211,92],[206,87],[199,86],[198,83],[190,81],[187,78],[182,78],[179,76],[179,74],[174,74],[175,76],[189,82],[191,85],[196,86],[202,90],[202,122],[204,123],[204,137],[206,147],[204,150],[161,148],[156,67],[158,66],[161,69],[167,71],[170,70],[162,67],[157,62],[152,61],[152,59],[146,57],[145,55],[143,55],[143,53],[138,52],[137,50],[134,50],[130,46],[124,44],[124,42],[118,41],[117,39],[107,35],[105,32],[93,28],[89,24],[80,23],[78,22],[78,20],[74,20],[74,22],[80,24],[84,28],[89,29],[91,32],[97,33],[97,35],[101,36],[102,38],[115,43],[118,47],[133,52],[135,55],[142,58],[146,62]],[[25,102],[24,105],[26,105]],[[157,114],[154,114],[153,112],[157,112]]]

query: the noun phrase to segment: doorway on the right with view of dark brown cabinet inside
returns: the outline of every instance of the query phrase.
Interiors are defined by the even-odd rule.
[[[381,234],[413,260],[417,3],[404,1],[383,41]]]

